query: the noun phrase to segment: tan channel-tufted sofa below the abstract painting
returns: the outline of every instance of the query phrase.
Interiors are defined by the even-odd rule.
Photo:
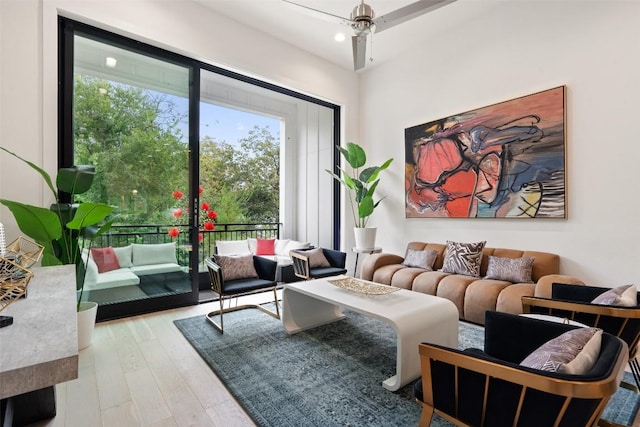
[[[438,252],[433,271],[403,265],[404,257],[389,253],[369,255],[362,264],[361,278],[377,283],[410,289],[447,298],[458,308],[460,319],[484,324],[486,310],[522,313],[521,297],[551,297],[553,282],[584,284],[581,280],[560,275],[560,257],[547,252],[485,247],[482,252],[480,277],[438,271],[442,268],[446,245],[411,242],[409,249]],[[483,279],[489,256],[504,258],[534,258],[531,271],[533,283],[512,283],[506,280]]]

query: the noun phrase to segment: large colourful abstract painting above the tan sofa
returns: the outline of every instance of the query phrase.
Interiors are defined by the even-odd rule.
[[[565,86],[405,129],[407,218],[566,218]]]

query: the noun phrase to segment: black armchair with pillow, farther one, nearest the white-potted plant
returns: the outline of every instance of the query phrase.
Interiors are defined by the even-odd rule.
[[[304,280],[346,274],[347,254],[334,249],[297,249],[289,252],[293,273]]]

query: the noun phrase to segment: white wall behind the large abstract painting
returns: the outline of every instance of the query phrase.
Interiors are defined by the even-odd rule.
[[[486,240],[491,247],[561,255],[561,269],[594,285],[640,282],[640,2],[511,1],[372,68],[360,86],[361,143],[383,176],[377,244]],[[443,28],[446,28],[443,25]],[[514,97],[567,86],[568,219],[405,219],[404,129]],[[382,206],[382,205],[381,205]]]

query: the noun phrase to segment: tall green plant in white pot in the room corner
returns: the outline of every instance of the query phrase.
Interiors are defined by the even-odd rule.
[[[339,145],[336,147],[340,153],[342,153],[347,163],[349,163],[351,173],[340,166],[337,166],[337,168],[340,170],[341,176],[329,169],[326,169],[326,171],[336,181],[344,185],[349,195],[353,223],[356,228],[356,248],[372,249],[375,247],[376,229],[372,227],[370,227],[368,231],[362,229],[367,229],[369,217],[373,214],[373,211],[382,199],[384,199],[383,197],[377,202],[374,202],[373,196],[380,182],[378,174],[389,167],[393,158],[388,159],[381,166],[366,167],[367,155],[361,146],[349,142],[347,143],[347,148],[340,147]]]

